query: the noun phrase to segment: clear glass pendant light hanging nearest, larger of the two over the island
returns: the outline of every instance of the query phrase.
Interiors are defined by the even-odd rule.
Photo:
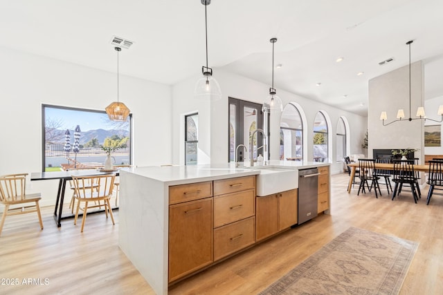
[[[210,0],[201,0],[201,4],[205,6],[206,66],[201,67],[203,77],[195,84],[194,96],[198,99],[217,100],[221,98],[220,86],[213,77],[213,69],[208,67],[208,16],[206,8],[210,4]]]

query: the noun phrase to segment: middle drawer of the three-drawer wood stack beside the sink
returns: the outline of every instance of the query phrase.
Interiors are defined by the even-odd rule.
[[[214,197],[214,227],[255,215],[253,189]]]

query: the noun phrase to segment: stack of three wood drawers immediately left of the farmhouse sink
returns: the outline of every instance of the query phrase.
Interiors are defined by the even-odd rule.
[[[214,181],[214,261],[255,243],[255,175]]]

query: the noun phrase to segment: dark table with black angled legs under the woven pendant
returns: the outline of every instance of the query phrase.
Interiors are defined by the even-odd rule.
[[[72,176],[93,176],[115,173],[118,176],[118,169],[111,171],[104,171],[100,169],[87,170],[69,170],[69,171],[48,171],[48,172],[33,172],[30,174],[31,181],[37,180],[59,180],[57,199],[55,200],[54,220],[57,227],[62,226],[62,220],[66,218],[73,218],[74,215],[62,216],[64,192],[66,190],[66,182],[72,180]]]

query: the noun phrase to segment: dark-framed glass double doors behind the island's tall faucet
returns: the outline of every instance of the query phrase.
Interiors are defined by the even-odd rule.
[[[244,144],[247,152],[238,149],[238,161],[248,161],[251,136],[257,129],[263,129],[262,105],[229,97],[228,162],[235,161],[235,148],[239,144]],[[262,146],[262,138],[261,133],[255,133],[252,151],[254,159],[260,153],[265,157],[263,151],[257,154],[257,146]]]

